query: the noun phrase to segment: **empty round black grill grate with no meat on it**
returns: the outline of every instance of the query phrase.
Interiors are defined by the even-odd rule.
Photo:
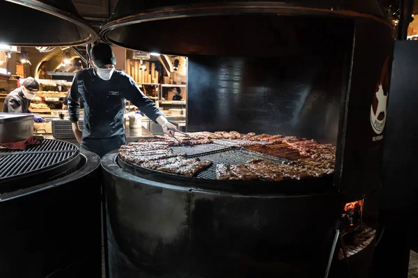
[[[23,179],[25,183],[47,180],[68,171],[78,162],[79,149],[60,140],[43,140],[40,145],[24,151],[0,149],[0,189]]]

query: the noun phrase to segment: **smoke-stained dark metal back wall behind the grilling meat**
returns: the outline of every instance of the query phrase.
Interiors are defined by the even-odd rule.
[[[318,56],[189,56],[188,131],[336,142],[343,49]]]

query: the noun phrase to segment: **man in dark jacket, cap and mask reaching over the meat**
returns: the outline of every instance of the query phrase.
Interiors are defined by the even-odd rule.
[[[72,131],[81,148],[100,157],[126,143],[123,126],[125,99],[128,99],[150,120],[162,126],[164,133],[173,135],[171,124],[144,95],[131,76],[115,70],[116,59],[109,44],[98,43],[91,49],[93,68],[77,72],[68,95],[68,113]],[[84,130],[79,128],[80,98],[84,99]]]

